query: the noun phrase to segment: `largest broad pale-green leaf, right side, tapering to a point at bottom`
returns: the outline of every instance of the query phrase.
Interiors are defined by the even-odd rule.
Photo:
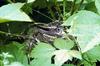
[[[69,33],[77,36],[77,41],[82,52],[84,52],[83,50],[91,41],[95,41],[94,44],[91,44],[92,48],[100,44],[98,40],[95,40],[96,36],[100,33],[99,15],[91,11],[79,11],[77,14],[68,18],[64,25],[71,25]]]

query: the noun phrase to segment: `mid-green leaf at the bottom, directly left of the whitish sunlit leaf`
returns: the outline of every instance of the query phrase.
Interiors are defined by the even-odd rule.
[[[55,51],[51,45],[46,43],[38,43],[38,45],[32,50],[32,66],[52,66],[51,57],[52,53]]]

